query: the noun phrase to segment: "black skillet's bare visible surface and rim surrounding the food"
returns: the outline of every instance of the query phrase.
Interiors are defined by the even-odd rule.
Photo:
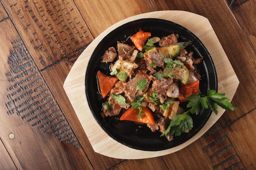
[[[179,24],[162,19],[146,18],[119,26],[101,40],[93,51],[87,66],[85,93],[92,115],[110,137],[121,144],[137,150],[166,150],[191,139],[191,137],[206,124],[212,111],[202,108],[198,115],[191,115],[193,118],[192,130],[189,133],[183,133],[180,136],[174,137],[173,141],[168,141],[166,137],[160,137],[160,132],[151,132],[146,125],[138,125],[131,121],[120,121],[116,119],[116,117],[106,117],[103,119],[100,115],[105,99],[102,99],[99,93],[96,73],[98,70],[108,75],[110,73],[110,63],[102,63],[101,56],[110,46],[116,47],[117,42],[125,41],[127,44],[132,44],[129,37],[140,29],[146,32],[151,32],[151,37],[157,36],[161,38],[175,33],[179,34],[178,42],[192,42],[192,45],[187,46],[186,50],[193,51],[193,56],[195,58],[204,58],[203,62],[197,65],[197,69],[202,75],[202,80],[200,80],[201,93],[207,94],[208,89],[217,91],[218,82],[216,69],[211,55],[204,44],[193,33]]]

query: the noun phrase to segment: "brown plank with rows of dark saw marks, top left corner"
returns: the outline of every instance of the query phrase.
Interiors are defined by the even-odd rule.
[[[9,0],[4,6],[40,70],[93,40],[73,1]]]

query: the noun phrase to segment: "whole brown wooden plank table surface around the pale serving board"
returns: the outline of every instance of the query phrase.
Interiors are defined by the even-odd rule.
[[[255,170],[256,0],[0,0],[0,170]],[[74,62],[105,29],[133,15],[206,17],[240,81],[226,111],[169,155],[94,152],[63,89]],[[186,16],[184,16],[186,17]]]

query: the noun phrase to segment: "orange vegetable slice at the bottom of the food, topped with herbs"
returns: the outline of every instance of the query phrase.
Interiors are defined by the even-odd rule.
[[[145,113],[143,118],[139,118],[137,115],[139,114],[139,109],[129,108],[126,112],[120,117],[120,120],[129,120],[135,121],[144,124],[152,124],[155,125],[154,117],[148,107],[142,106],[142,113]]]

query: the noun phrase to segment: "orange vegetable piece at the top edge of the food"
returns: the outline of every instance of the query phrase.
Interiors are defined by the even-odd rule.
[[[139,30],[137,33],[135,33],[134,35],[132,35],[130,37],[130,39],[132,40],[133,44],[136,46],[136,48],[139,51],[142,51],[143,49],[143,45],[146,42],[146,40],[148,39],[148,37],[151,36],[151,33],[149,32],[144,32],[142,30]]]

